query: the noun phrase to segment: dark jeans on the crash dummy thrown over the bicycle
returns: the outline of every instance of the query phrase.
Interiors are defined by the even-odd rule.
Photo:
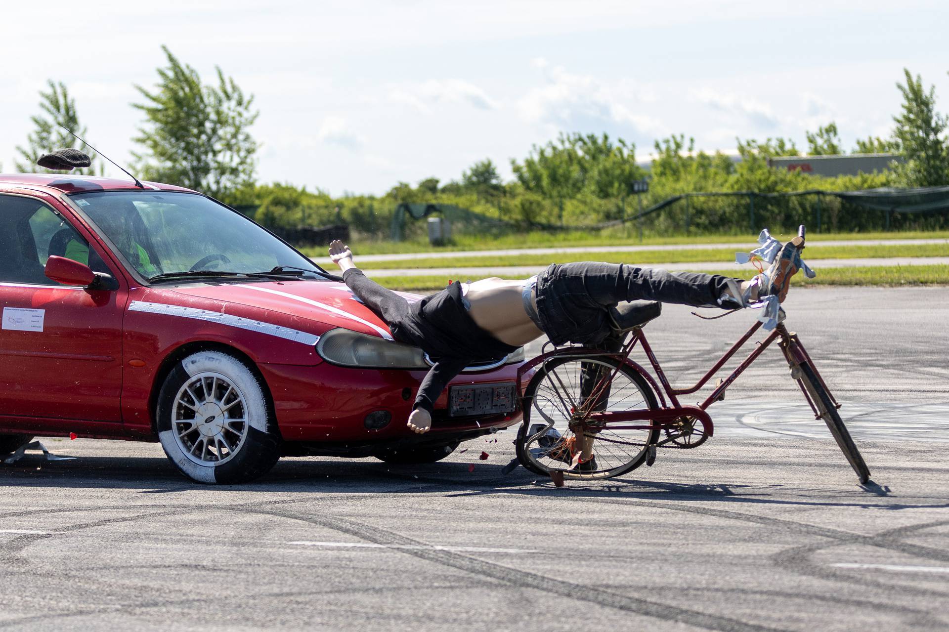
[[[537,313],[553,344],[599,344],[610,333],[609,307],[637,300],[737,307],[717,303],[729,281],[741,279],[626,264],[553,264],[537,277]]]

